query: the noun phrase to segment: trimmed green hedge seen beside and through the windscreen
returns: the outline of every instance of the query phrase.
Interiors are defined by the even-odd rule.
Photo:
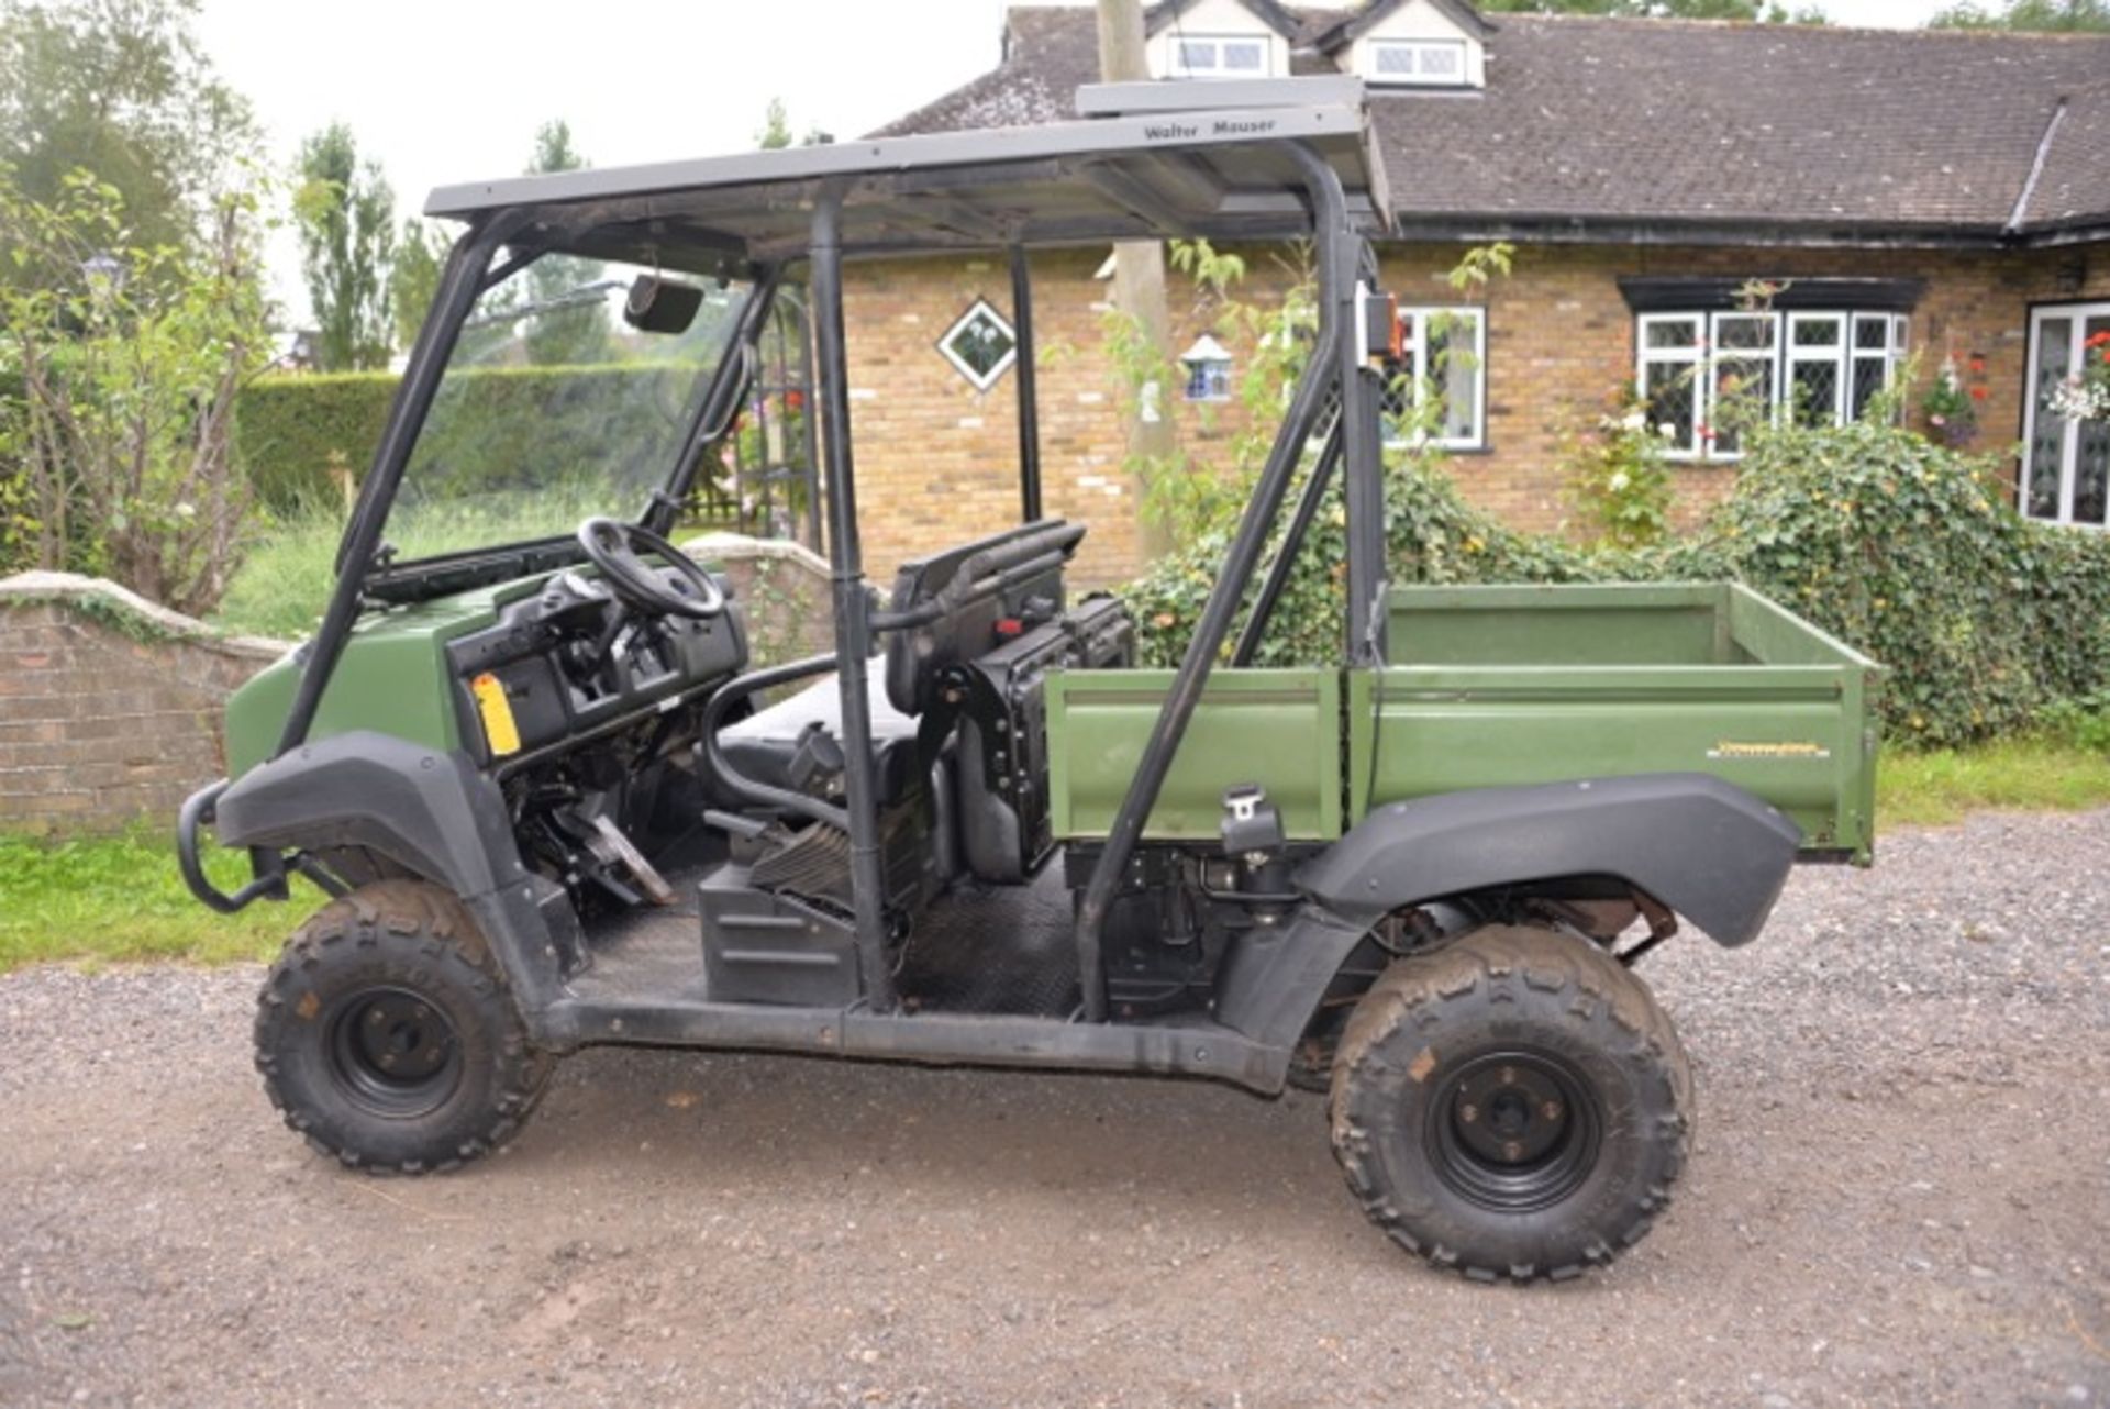
[[[686,424],[696,369],[686,363],[487,367],[449,373],[420,441],[420,485],[468,494],[576,477],[656,485]],[[388,424],[390,373],[279,375],[243,390],[236,451],[262,502],[295,510],[338,496],[333,464],[357,481]],[[610,447],[622,458],[610,460]],[[475,483],[462,483],[468,475]]]

